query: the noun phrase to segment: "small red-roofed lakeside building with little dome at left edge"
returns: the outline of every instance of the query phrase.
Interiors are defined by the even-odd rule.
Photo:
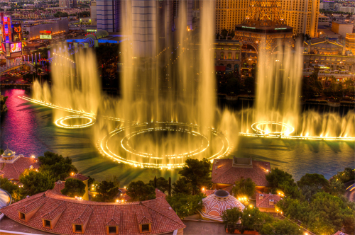
[[[18,184],[20,175],[25,169],[37,170],[40,168],[40,163],[37,158],[25,157],[22,154],[16,155],[9,148],[4,151],[0,158],[0,177],[8,178],[13,183]]]

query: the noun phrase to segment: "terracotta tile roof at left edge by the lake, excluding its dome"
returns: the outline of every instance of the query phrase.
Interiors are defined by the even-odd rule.
[[[38,159],[20,156],[13,164],[7,162],[0,165],[1,171],[4,171],[4,178],[13,179],[18,181],[21,173],[25,169],[33,166],[34,169],[40,168]]]

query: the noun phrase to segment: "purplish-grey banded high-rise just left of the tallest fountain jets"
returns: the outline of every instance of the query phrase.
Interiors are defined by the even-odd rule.
[[[120,28],[120,0],[97,0],[97,30],[119,32]]]

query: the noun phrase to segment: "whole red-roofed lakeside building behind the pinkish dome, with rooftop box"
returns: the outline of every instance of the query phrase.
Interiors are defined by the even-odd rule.
[[[214,189],[231,190],[237,180],[251,178],[256,189],[264,191],[268,187],[266,174],[271,171],[267,161],[255,161],[251,158],[233,157],[233,159],[214,159],[212,166]]]

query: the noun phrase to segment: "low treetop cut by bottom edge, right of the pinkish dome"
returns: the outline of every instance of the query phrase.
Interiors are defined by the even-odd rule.
[[[300,228],[293,224],[293,222],[288,221],[288,219],[280,219],[273,223],[263,224],[260,230],[260,234],[303,234]]]

